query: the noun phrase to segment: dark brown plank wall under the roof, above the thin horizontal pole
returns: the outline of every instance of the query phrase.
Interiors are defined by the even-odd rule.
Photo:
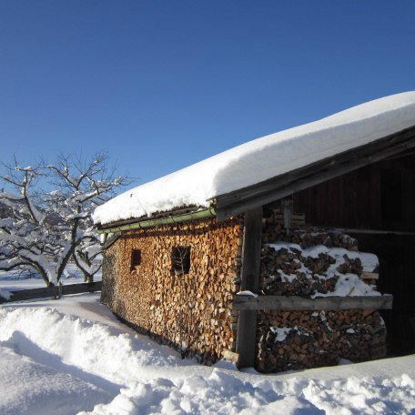
[[[385,160],[294,195],[312,224],[415,231],[415,156]]]

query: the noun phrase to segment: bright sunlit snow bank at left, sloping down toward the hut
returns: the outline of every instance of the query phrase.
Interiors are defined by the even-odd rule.
[[[36,349],[41,349],[49,353],[50,359],[59,357],[66,364],[119,385],[141,379],[139,370],[146,367],[182,365],[177,354],[146,336],[138,340],[56,309],[0,309],[0,328],[0,344],[15,343],[25,356],[33,358]]]

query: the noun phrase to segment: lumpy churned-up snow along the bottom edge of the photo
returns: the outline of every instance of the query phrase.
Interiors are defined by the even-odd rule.
[[[385,414],[413,408],[415,383],[407,375],[390,380],[238,380],[219,369],[208,378],[192,376],[137,383],[93,412],[110,414]],[[412,395],[412,398],[410,398]],[[86,414],[87,412],[83,412]]]

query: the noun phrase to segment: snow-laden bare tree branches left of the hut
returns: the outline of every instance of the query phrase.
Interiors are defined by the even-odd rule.
[[[50,286],[74,258],[86,281],[93,281],[101,267],[96,261],[101,243],[92,211],[130,180],[115,177],[106,154],[89,161],[60,155],[56,164],[36,167],[21,167],[15,160],[4,168],[0,179],[12,191],[0,193],[6,207],[0,220],[0,269],[35,268]],[[36,190],[39,179],[54,190]]]

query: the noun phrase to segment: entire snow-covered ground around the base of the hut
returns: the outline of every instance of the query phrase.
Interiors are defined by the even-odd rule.
[[[261,375],[180,359],[99,294],[0,308],[1,414],[415,414],[415,355]]]

